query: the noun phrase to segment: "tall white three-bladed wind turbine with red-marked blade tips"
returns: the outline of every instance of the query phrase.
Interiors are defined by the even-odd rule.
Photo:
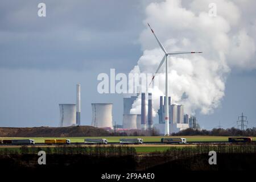
[[[148,24],[148,23],[147,23]],[[150,24],[148,24],[148,27],[150,27]],[[156,73],[158,73],[159,69],[161,68],[161,66],[164,63],[164,60],[166,60],[166,107],[165,107],[165,115],[164,115],[164,121],[165,121],[165,126],[164,126],[164,135],[168,136],[170,135],[170,131],[169,131],[169,106],[168,106],[168,56],[169,55],[181,55],[181,54],[185,54],[185,53],[202,53],[202,52],[167,52],[166,49],[163,47],[163,44],[159,41],[158,37],[155,35],[154,31],[152,30],[152,28],[150,27],[152,33],[154,34],[156,41],[158,42],[160,48],[163,50],[164,52],[164,56],[162,61],[160,62],[158,69],[156,69]],[[155,78],[155,74],[152,77],[151,82],[154,80]],[[150,84],[151,84],[150,82]]]

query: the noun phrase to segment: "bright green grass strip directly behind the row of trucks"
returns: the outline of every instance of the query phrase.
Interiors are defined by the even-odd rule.
[[[228,141],[228,137],[221,136],[175,136],[172,138],[187,138],[187,142],[214,142],[214,141]],[[119,138],[137,138],[137,137],[68,137],[72,143],[75,142],[84,142],[85,138],[106,138],[109,142],[119,142]],[[138,137],[142,138],[144,142],[160,142],[160,139],[163,137]],[[252,137],[253,140],[256,140],[256,137]],[[28,138],[0,138],[0,139],[28,139]],[[34,139],[35,143],[44,143],[44,139],[64,139],[64,138],[47,138],[47,137],[31,137],[30,139]]]

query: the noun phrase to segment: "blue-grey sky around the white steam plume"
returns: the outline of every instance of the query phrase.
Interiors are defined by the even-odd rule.
[[[137,64],[151,2],[44,1],[47,16],[40,18],[40,1],[1,1],[0,126],[57,126],[59,104],[75,103],[78,82],[82,125],[91,123],[92,102],[113,102],[121,124],[122,95],[98,94],[97,75],[110,68],[129,73]],[[212,114],[196,111],[200,125],[236,126],[243,112],[255,127],[255,78],[254,68],[232,68],[220,106]]]

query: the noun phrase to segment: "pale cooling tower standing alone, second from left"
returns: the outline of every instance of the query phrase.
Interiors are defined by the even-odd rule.
[[[110,103],[93,103],[92,126],[113,128],[112,107],[113,104]]]

